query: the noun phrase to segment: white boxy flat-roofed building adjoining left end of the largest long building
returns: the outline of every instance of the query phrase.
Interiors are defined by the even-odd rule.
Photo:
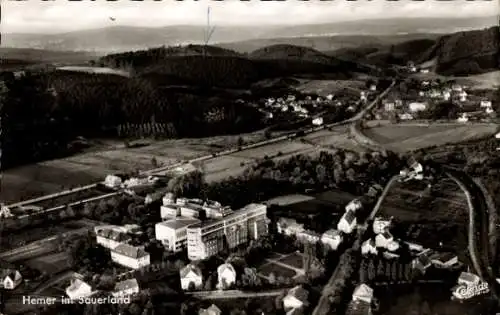
[[[156,223],[155,236],[166,249],[177,252],[187,245],[188,226],[201,222],[196,218],[175,218]]]

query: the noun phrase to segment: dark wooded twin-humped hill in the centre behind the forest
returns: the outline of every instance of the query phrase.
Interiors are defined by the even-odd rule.
[[[204,53],[205,52],[205,53]],[[132,70],[136,76],[160,85],[187,84],[247,88],[262,79],[291,75],[329,75],[343,79],[352,72],[367,72],[308,47],[274,45],[248,56],[213,46],[153,48],[107,55],[98,64]]]

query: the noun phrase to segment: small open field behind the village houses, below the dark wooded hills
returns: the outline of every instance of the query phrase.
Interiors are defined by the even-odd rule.
[[[300,80],[300,85],[295,89],[302,93],[327,96],[339,92],[359,96],[359,92],[365,89],[365,82],[358,80]]]

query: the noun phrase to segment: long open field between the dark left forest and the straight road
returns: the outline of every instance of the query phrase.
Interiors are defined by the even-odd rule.
[[[91,152],[4,171],[0,199],[11,203],[95,183],[117,171],[152,169],[153,157],[159,166],[169,165],[234,147],[238,137],[151,141],[149,146],[140,148],[125,148],[122,142],[117,141],[101,141]],[[241,137],[248,143],[265,139],[263,131]]]

